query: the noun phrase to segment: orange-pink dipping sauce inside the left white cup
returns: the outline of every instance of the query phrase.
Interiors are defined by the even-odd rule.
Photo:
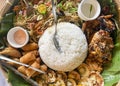
[[[25,41],[26,41],[26,34],[23,30],[17,30],[15,33],[14,33],[14,40],[17,44],[24,44]]]

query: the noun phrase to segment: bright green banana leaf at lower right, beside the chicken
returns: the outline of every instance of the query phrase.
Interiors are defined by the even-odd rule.
[[[105,86],[114,86],[120,80],[120,31],[118,31],[112,61],[104,65]]]

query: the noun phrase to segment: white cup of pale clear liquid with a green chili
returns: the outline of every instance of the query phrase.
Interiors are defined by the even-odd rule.
[[[100,12],[101,7],[97,0],[82,0],[78,6],[78,16],[85,21],[96,19]]]

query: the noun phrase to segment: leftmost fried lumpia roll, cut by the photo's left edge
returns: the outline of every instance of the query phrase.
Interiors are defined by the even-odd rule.
[[[7,55],[7,56],[10,56],[10,57],[13,57],[13,58],[21,57],[21,53],[13,47],[5,48],[3,51],[0,52],[0,54],[1,55]]]

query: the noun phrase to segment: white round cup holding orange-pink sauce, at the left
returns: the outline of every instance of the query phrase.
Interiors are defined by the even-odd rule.
[[[21,48],[29,41],[27,30],[22,27],[11,28],[7,34],[8,43],[15,48]]]

